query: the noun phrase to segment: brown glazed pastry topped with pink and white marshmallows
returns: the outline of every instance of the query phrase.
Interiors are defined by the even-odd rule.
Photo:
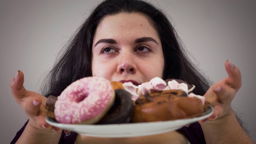
[[[158,81],[161,89],[148,86],[150,83],[139,87],[140,96],[135,102],[132,122],[177,120],[202,115],[205,98],[192,93],[193,85],[188,86],[184,81],[174,79],[168,79],[164,84],[159,78],[154,79],[154,83]]]

